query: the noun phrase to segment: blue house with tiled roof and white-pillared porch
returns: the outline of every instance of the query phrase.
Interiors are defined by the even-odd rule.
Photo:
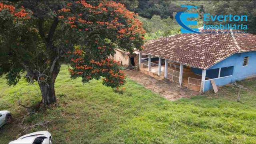
[[[140,71],[205,92],[256,76],[256,36],[240,31],[178,34],[150,40],[140,51]]]

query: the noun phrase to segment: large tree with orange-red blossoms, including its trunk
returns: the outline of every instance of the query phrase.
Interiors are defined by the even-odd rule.
[[[113,1],[19,1],[0,3],[0,76],[16,85],[20,73],[38,82],[42,102],[56,102],[54,83],[60,63],[83,83],[104,77],[112,88],[125,83],[114,49],[143,48],[142,23]]]

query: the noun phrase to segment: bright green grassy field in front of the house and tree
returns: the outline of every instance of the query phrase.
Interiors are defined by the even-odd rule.
[[[168,101],[127,79],[124,94],[93,80],[83,85],[71,80],[62,65],[56,80],[58,106],[27,116],[27,126],[43,120],[55,143],[256,143],[256,79],[240,82],[248,88],[236,102],[234,87],[223,87],[217,95]],[[26,110],[17,104],[35,105],[40,101],[37,85],[22,79],[8,87],[0,79],[0,109],[10,110],[12,124],[0,131],[0,143],[8,143],[22,132],[18,124]]]

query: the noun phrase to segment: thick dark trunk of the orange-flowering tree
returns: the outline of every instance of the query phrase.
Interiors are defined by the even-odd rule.
[[[42,93],[42,103],[44,105],[50,105],[56,102],[54,83],[59,72],[60,66],[57,64],[56,67],[54,67],[52,75],[50,76],[50,80],[38,83]]]

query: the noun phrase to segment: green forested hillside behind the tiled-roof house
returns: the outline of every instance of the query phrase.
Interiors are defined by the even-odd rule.
[[[177,12],[184,11],[181,4],[198,6],[199,27],[202,26],[203,14],[211,15],[247,15],[248,32],[256,34],[256,1],[164,1],[164,0],[122,0],[128,10],[139,14],[147,32],[147,39],[155,39],[162,36],[170,36],[180,32],[180,26],[174,16]],[[215,22],[217,23],[217,22]],[[223,22],[224,23],[224,22]],[[239,24],[229,22],[230,24]],[[209,22],[212,24],[212,22]]]

